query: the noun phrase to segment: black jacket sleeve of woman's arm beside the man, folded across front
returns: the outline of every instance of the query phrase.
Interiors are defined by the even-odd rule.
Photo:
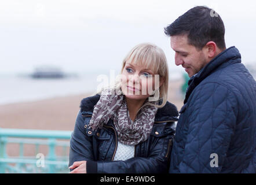
[[[173,123],[174,124],[174,123]],[[168,128],[166,128],[168,129]],[[173,134],[174,131],[172,130]],[[148,157],[133,157],[126,161],[98,161],[98,173],[167,173],[173,143],[173,135],[155,139]]]

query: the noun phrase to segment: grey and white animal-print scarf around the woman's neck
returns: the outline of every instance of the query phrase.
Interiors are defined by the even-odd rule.
[[[150,103],[155,104],[157,101]],[[96,131],[97,128],[102,128],[103,124],[107,124],[109,119],[112,119],[119,142],[125,145],[137,145],[147,140],[151,133],[158,110],[156,106],[151,104],[146,100],[138,111],[136,119],[132,121],[124,96],[103,90],[100,100],[94,106],[89,128]]]

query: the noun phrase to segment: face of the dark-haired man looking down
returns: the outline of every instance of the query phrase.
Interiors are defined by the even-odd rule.
[[[171,36],[171,48],[175,51],[175,64],[182,65],[188,76],[198,73],[209,61],[202,50],[188,44],[186,35]]]

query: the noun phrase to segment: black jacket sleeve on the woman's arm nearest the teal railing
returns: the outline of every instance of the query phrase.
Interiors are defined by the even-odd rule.
[[[85,120],[81,111],[75,121],[75,128],[70,139],[70,162],[69,166],[75,161],[93,161],[92,138],[85,133]]]

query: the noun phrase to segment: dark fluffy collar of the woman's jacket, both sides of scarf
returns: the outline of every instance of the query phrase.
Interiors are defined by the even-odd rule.
[[[87,97],[81,101],[81,112],[87,112],[88,114],[93,113],[94,105],[100,99],[100,95],[96,94],[92,97]],[[159,108],[155,116],[155,121],[177,121],[178,110],[175,105],[170,102],[166,102],[163,108]]]

